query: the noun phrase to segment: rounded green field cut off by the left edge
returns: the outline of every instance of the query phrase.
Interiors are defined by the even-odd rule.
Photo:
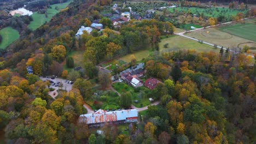
[[[2,43],[0,44],[0,49],[5,49],[8,45],[20,37],[19,32],[11,27],[5,27],[1,29],[0,35],[2,35],[3,38]]]

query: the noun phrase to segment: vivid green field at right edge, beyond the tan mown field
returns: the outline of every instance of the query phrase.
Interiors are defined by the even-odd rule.
[[[223,26],[219,30],[240,38],[256,41],[256,25],[253,23],[238,23],[232,26]]]

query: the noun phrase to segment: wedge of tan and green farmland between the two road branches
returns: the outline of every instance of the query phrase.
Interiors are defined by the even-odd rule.
[[[254,21],[256,21],[255,18],[246,20],[245,24],[232,23],[231,25],[185,33],[185,35],[218,46],[237,47],[237,45],[242,43],[256,41],[256,25]]]

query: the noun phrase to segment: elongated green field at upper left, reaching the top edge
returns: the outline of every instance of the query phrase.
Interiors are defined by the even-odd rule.
[[[28,28],[30,28],[33,31],[36,30],[38,27],[42,26],[45,22],[49,22],[54,15],[56,15],[61,11],[61,9],[65,9],[69,3],[71,3],[71,0],[67,1],[66,3],[51,5],[51,8],[47,9],[48,17],[45,17],[45,14],[38,14],[38,12],[33,13],[31,15],[33,17],[33,21],[31,21],[30,25],[28,25]]]

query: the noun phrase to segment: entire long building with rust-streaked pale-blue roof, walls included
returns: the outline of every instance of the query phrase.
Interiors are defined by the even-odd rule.
[[[80,123],[86,123],[89,127],[101,126],[106,122],[132,123],[138,122],[138,111],[136,109],[109,111],[98,110],[95,113],[88,113],[79,116]]]

